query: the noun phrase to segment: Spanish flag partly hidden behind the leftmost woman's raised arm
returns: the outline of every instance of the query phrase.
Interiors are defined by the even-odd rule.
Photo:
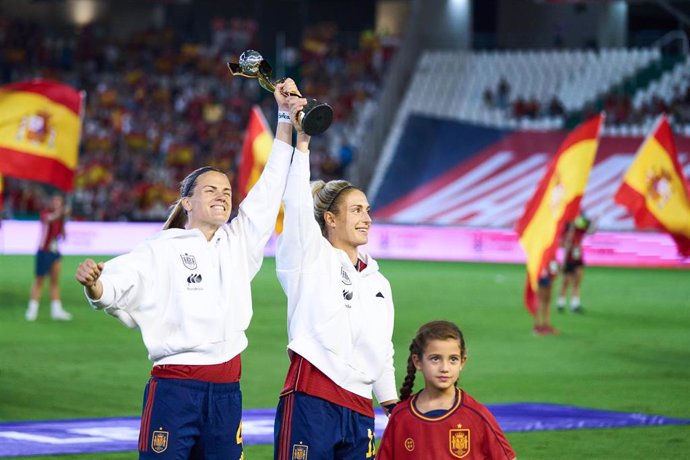
[[[244,142],[242,143],[242,158],[240,161],[240,173],[238,186],[240,189],[241,199],[244,199],[249,193],[249,190],[259,180],[261,172],[266,166],[268,156],[271,154],[271,146],[273,145],[273,133],[268,126],[266,117],[261,112],[258,105],[252,107],[249,114],[249,123],[244,134]],[[283,208],[281,206],[276,220],[276,233],[283,231]]]

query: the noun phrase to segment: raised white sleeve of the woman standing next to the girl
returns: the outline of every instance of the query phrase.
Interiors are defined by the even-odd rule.
[[[314,200],[309,185],[309,155],[295,150],[283,203],[283,233],[276,249],[276,268],[291,271],[318,260],[325,239],[314,217]]]

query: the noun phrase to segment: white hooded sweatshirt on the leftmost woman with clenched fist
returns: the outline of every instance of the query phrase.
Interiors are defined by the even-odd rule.
[[[292,146],[273,141],[237,217],[211,241],[198,229],[163,230],[106,262],[103,295],[89,302],[138,326],[155,365],[218,364],[246,348],[249,283],[275,226],[292,152]]]

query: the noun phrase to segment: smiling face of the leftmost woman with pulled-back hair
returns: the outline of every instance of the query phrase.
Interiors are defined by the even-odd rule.
[[[208,238],[230,219],[232,188],[228,176],[217,171],[201,174],[190,196],[182,199],[189,228],[198,228]]]

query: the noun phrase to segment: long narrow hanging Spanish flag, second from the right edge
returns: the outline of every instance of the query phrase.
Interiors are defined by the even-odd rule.
[[[527,256],[525,306],[533,315],[539,275],[555,258],[565,222],[580,212],[603,120],[603,115],[595,116],[566,137],[516,224]]]

